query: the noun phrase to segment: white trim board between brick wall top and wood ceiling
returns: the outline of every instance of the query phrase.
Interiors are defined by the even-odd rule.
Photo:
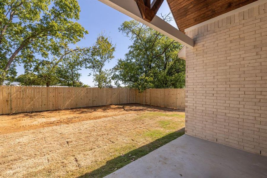
[[[190,30],[193,30],[193,29],[198,28],[198,27],[201,27],[201,26],[204,26],[204,25],[206,25],[206,24],[208,24],[208,23],[215,22],[216,20],[220,20],[220,19],[222,19],[222,18],[228,17],[228,16],[230,16],[230,15],[233,15],[233,14],[235,14],[235,13],[238,13],[238,12],[241,12],[241,11],[243,11],[243,10],[249,9],[249,8],[251,8],[251,7],[254,7],[254,6],[263,4],[263,3],[265,3],[265,2],[267,2],[267,0],[258,0],[258,1],[252,2],[252,3],[247,4],[247,5],[245,5],[245,6],[242,6],[242,7],[239,7],[239,8],[237,8],[237,9],[234,9],[234,10],[232,10],[232,11],[230,11],[230,12],[226,12],[226,13],[224,13],[224,14],[222,14],[222,15],[219,15],[219,16],[214,17],[214,18],[212,18],[212,19],[206,20],[205,22],[202,22],[202,23],[196,24],[196,25],[194,25],[194,26],[192,26],[192,27],[186,28],[186,29],[185,29],[185,32],[190,31]]]

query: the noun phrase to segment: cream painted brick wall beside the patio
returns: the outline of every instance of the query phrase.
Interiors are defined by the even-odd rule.
[[[187,35],[186,134],[267,155],[267,4]]]

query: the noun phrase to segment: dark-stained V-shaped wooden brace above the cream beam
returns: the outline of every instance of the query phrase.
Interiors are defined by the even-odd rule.
[[[135,0],[135,1],[140,10],[142,18],[147,22],[151,22],[152,19],[157,14],[158,9],[160,8],[164,0],[154,0],[152,1],[152,4],[150,4],[150,0]]]

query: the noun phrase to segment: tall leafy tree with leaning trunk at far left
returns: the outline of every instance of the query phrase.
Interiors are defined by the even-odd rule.
[[[4,0],[0,5],[0,85],[36,54],[57,55],[58,43],[76,43],[88,32],[77,22],[77,0]]]

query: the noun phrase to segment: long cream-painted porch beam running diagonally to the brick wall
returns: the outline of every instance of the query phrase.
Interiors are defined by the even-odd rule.
[[[171,26],[169,23],[165,22],[158,16],[155,16],[151,22],[143,20],[139,8],[134,0],[98,0],[107,4],[108,6],[122,12],[125,15],[153,28],[154,30],[168,36],[175,41],[190,47],[194,48],[194,40],[189,36],[185,35],[178,29]]]

